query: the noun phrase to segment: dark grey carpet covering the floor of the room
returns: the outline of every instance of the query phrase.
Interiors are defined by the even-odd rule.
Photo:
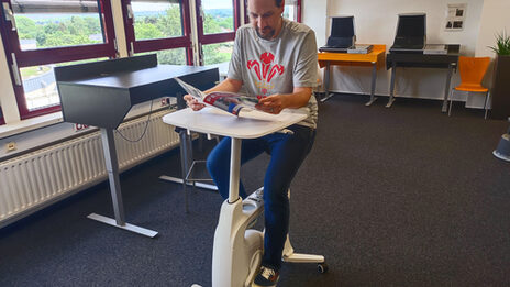
[[[320,104],[291,186],[292,244],[330,271],[286,264],[278,286],[510,286],[510,164],[491,155],[508,122],[461,104],[448,118],[440,101],[366,100]],[[157,238],[86,219],[112,214],[103,183],[0,230],[0,286],[210,286],[222,200],[192,190],[186,213],[181,187],[158,179],[179,175],[178,161],[173,151],[121,176],[127,221]],[[248,189],[267,163],[243,166]]]

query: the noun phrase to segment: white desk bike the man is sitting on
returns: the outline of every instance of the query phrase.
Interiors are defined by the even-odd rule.
[[[262,260],[262,232],[246,230],[247,224],[262,212],[262,191],[253,192],[246,200],[240,200],[239,196],[241,140],[281,131],[306,118],[302,113],[273,115],[258,111],[241,112],[241,117],[235,117],[212,108],[198,112],[188,108],[163,117],[165,123],[189,131],[232,137],[229,199],[221,207],[214,233],[213,287],[251,286]],[[289,262],[324,263],[324,257],[320,255],[293,253],[288,242],[284,258]]]

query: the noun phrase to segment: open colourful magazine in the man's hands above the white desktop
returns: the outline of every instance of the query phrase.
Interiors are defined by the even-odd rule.
[[[239,115],[242,109],[243,111],[258,110],[255,108],[255,104],[258,103],[257,98],[239,95],[234,92],[228,92],[228,91],[213,91],[210,93],[204,93],[203,91],[195,88],[193,86],[189,84],[186,84],[179,78],[175,78],[175,80],[189,95],[191,95],[199,102],[204,103],[206,106],[217,107],[223,111],[226,111],[235,115]]]

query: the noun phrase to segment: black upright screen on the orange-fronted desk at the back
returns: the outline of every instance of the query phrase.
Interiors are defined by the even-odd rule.
[[[328,43],[319,51],[346,53],[347,48],[354,45],[355,37],[354,16],[334,16],[331,19],[331,35],[328,37]]]

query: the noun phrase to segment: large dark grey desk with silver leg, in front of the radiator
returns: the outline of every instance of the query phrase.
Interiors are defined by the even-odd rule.
[[[113,130],[136,103],[177,97],[184,106],[185,91],[175,77],[206,90],[219,80],[219,73],[210,67],[158,66],[155,54],[55,68],[64,121],[95,125],[101,132],[115,220],[96,213],[88,218],[149,238],[157,234],[125,222]]]

